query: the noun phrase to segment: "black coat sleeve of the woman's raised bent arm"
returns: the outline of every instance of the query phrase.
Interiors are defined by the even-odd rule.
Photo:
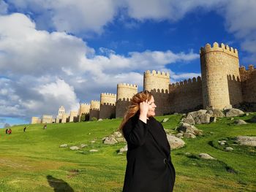
[[[140,119],[129,119],[127,123],[124,124],[123,128],[124,138],[128,143],[139,147],[144,144],[146,136],[148,134],[148,128],[146,123]]]

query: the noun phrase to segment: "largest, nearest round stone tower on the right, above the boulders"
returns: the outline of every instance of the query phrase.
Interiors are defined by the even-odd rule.
[[[238,51],[223,43],[200,49],[203,108],[222,110],[242,99]]]

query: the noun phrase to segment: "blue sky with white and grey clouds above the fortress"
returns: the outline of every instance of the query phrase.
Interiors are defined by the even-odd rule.
[[[56,115],[59,106],[200,75],[199,50],[223,42],[256,62],[255,0],[0,0],[0,127]]]

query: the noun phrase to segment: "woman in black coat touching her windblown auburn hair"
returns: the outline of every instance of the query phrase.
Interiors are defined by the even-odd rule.
[[[154,118],[156,104],[148,91],[137,93],[120,130],[128,144],[123,192],[170,192],[175,169],[162,124]]]

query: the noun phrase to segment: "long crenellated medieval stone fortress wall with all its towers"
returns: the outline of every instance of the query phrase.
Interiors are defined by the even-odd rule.
[[[170,83],[170,74],[146,71],[143,90],[151,91],[157,105],[156,114],[188,112],[198,109],[225,109],[242,103],[256,104],[256,69],[239,67],[238,50],[228,45],[207,44],[200,49],[201,77]],[[42,115],[31,118],[31,123],[66,123],[79,121],[81,115],[92,118],[121,118],[129,107],[138,86],[118,83],[117,93],[101,93],[100,101],[80,104],[78,112],[65,113],[59,108],[56,119]]]

